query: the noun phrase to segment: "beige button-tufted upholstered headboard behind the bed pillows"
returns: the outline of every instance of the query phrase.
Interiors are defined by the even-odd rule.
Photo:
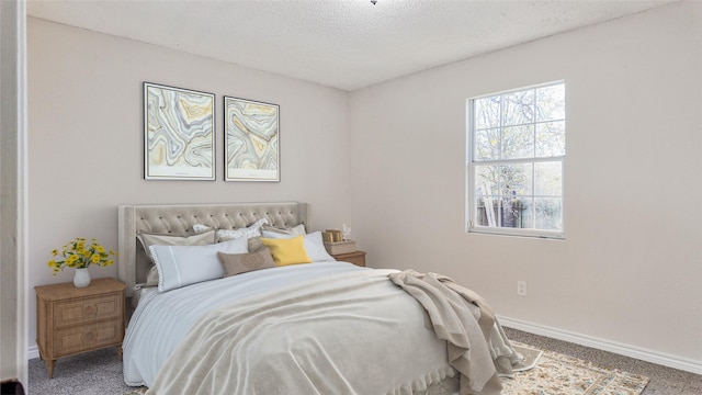
[[[127,285],[127,296],[131,296],[134,285],[146,280],[150,262],[136,239],[139,233],[186,236],[193,234],[195,224],[238,229],[260,218],[268,218],[269,224],[276,227],[305,224],[310,229],[309,214],[309,203],[299,202],[121,205],[120,281]]]

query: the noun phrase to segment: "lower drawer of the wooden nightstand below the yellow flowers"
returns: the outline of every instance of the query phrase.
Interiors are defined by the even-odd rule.
[[[68,356],[88,349],[117,345],[122,341],[123,334],[121,318],[91,326],[58,329],[54,332],[54,353]]]

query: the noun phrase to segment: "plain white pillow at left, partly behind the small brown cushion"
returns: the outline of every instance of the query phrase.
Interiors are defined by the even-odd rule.
[[[151,246],[158,269],[158,291],[166,292],[207,280],[222,279],[217,252],[246,253],[248,240],[238,238],[210,246]]]

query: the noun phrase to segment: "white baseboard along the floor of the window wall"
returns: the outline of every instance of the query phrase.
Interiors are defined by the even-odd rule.
[[[568,330],[547,327],[544,325],[532,324],[521,319],[499,316],[497,319],[502,326],[519,329],[525,332],[550,337],[553,339],[564,340],[576,345],[596,348],[598,350],[613,352],[620,356],[634,358],[637,360],[656,363],[659,365],[682,370],[695,374],[702,374],[702,361],[693,360],[684,357],[671,356],[658,351],[647,350],[636,346],[625,345],[607,339],[596,338],[582,334],[571,332]]]

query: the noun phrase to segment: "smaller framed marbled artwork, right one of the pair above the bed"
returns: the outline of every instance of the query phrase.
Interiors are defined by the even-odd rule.
[[[281,180],[280,106],[224,97],[225,181]]]

